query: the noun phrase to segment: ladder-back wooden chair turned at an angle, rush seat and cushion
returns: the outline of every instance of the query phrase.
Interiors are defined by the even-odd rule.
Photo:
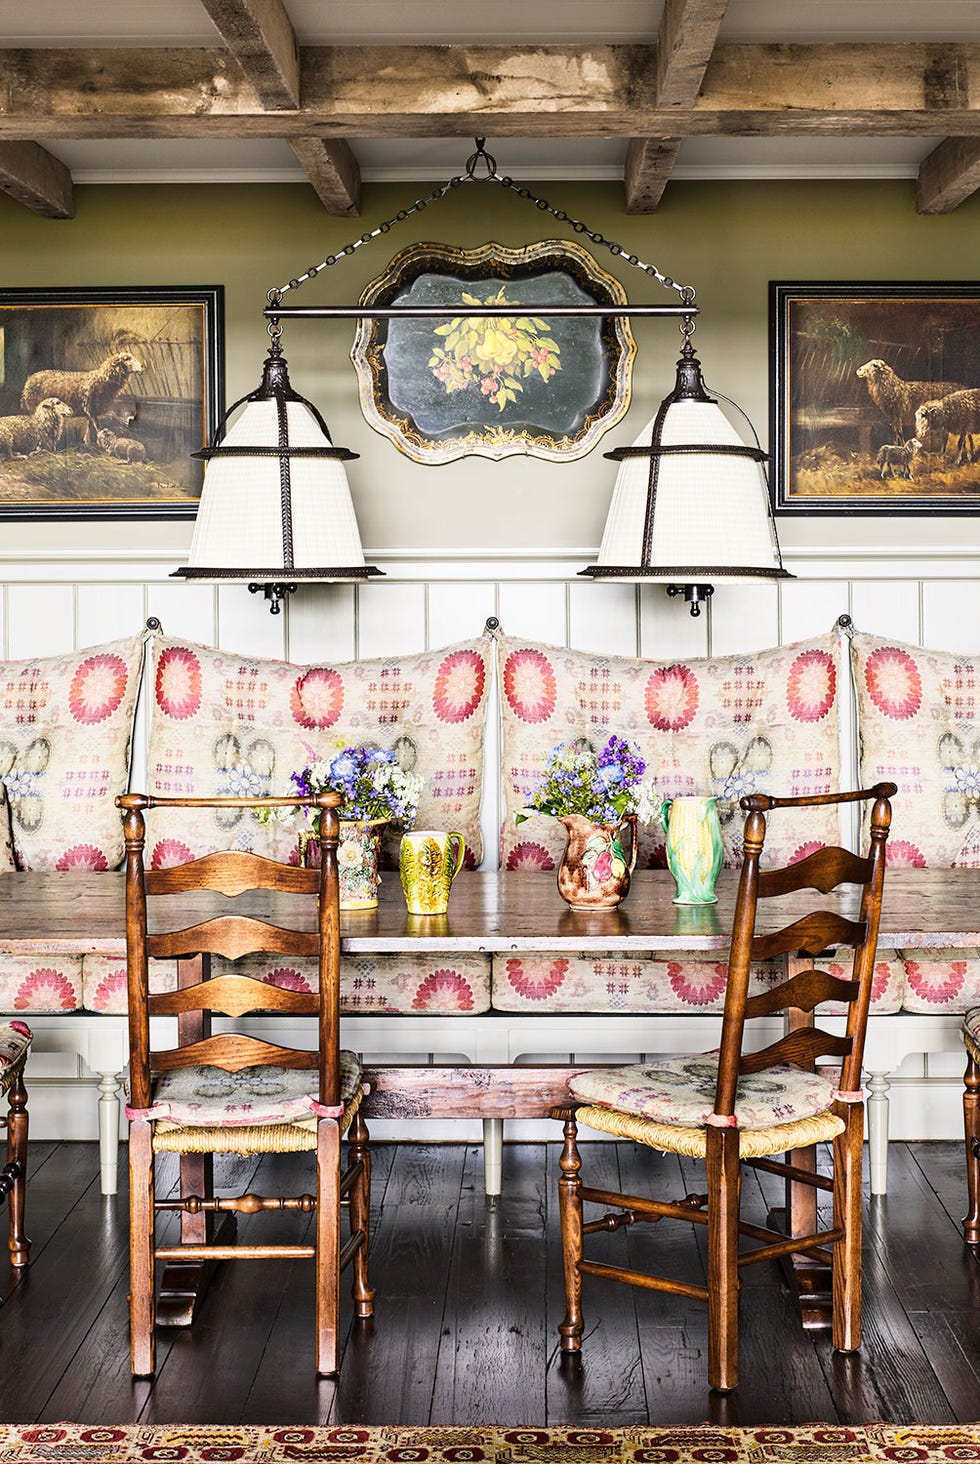
[[[885,840],[891,824],[894,783],[851,793],[810,798],[741,799],[747,811],[744,856],[728,959],[728,985],[721,1048],[696,1057],[667,1057],[634,1067],[595,1069],[570,1082],[568,1104],[552,1108],[564,1123],[564,1149],[558,1200],[564,1252],[565,1316],[558,1332],[561,1348],[582,1347],[582,1277],[598,1275],[630,1285],[669,1291],[708,1301],[708,1381],[728,1391],[738,1383],[740,1269],[766,1259],[807,1255],[832,1265],[834,1347],[854,1351],[861,1340],[861,1057],[872,998],[875,950],[885,877]],[[814,804],[872,804],[869,852],[822,848],[797,864],[760,870],[759,861],[771,810],[807,808]],[[838,886],[860,886],[857,896],[841,892],[819,908],[792,897],[801,890],[831,896]],[[759,905],[790,896],[788,908],[766,912],[757,933]],[[785,914],[784,914],[785,912]],[[790,915],[788,924],[773,928]],[[828,949],[853,947],[847,979],[816,969],[813,957]],[[749,996],[753,962],[785,957],[785,979]],[[842,1004],[845,1029],[835,1035],[817,1028],[814,1009]],[[762,1051],[746,1038],[750,1019],[785,1012],[787,1031]],[[838,1069],[817,1066],[832,1057]],[[636,1139],[665,1154],[703,1158],[706,1193],[684,1200],[655,1200],[589,1189],[582,1181],[579,1124]],[[816,1173],[817,1143],[832,1143],[834,1177]],[[772,1155],[782,1154],[784,1159]],[[740,1217],[741,1165],[775,1173],[787,1187],[809,1186],[832,1193],[832,1221],[820,1228],[816,1202],[804,1211],[812,1221],[806,1234],[749,1224]],[[810,1193],[804,1190],[803,1193]],[[813,1196],[816,1200],[816,1196]],[[612,1206],[601,1220],[584,1221],[583,1202]],[[664,1217],[696,1221],[708,1230],[708,1284],[687,1284],[584,1258],[584,1237],[618,1230],[636,1221]],[[795,1230],[797,1227],[794,1227]],[[740,1249],[740,1237],[754,1249]]]

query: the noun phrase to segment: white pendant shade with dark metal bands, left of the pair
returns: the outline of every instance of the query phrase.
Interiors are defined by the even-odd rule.
[[[277,322],[270,335],[261,385],[230,407],[212,445],[192,454],[208,467],[190,555],[174,577],[248,580],[278,615],[300,580],[382,571],[365,564],[343,467],[357,454],[334,447],[316,407],[293,391]]]

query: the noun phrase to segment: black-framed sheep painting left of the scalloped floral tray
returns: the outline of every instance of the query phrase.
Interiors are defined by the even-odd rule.
[[[0,518],[193,518],[224,291],[0,290]]]

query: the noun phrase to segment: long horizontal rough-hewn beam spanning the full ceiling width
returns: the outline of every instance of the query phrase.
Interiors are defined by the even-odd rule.
[[[690,107],[650,45],[311,47],[268,111],[211,48],[0,51],[3,138],[980,136],[980,44],[719,45]],[[530,129],[530,133],[529,133]]]

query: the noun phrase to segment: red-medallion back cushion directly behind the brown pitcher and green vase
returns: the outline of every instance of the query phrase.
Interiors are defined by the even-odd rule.
[[[836,635],[687,662],[590,656],[502,635],[498,675],[508,870],[551,870],[564,849],[557,818],[514,824],[558,742],[583,738],[599,750],[612,733],[631,738],[664,798],[718,796],[728,865],[741,856],[744,793],[788,798],[839,786]],[[838,837],[832,808],[773,813],[766,862],[785,864]],[[643,829],[640,864],[665,862],[662,830]]]

